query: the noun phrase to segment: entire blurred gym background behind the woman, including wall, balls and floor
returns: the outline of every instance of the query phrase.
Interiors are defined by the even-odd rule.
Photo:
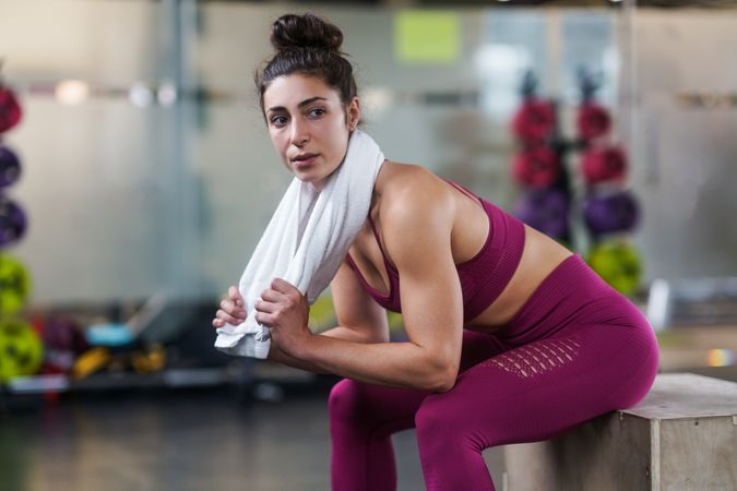
[[[329,489],[337,379],[211,326],[290,180],[252,82],[289,11],[343,29],[389,158],[584,255],[663,372],[737,381],[736,7],[0,0],[0,490]]]

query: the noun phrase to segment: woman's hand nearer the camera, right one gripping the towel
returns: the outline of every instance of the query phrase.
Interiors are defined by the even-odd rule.
[[[261,292],[261,300],[253,306],[255,320],[269,326],[273,340],[287,355],[299,358],[312,336],[307,326],[310,308],[305,296],[288,282],[274,278],[271,288]]]

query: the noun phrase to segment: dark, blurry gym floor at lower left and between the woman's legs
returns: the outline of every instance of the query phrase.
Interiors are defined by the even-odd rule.
[[[67,394],[0,408],[0,491],[330,490],[328,387],[278,403],[227,388]],[[414,430],[399,490],[423,490]],[[501,489],[503,453],[484,457]]]

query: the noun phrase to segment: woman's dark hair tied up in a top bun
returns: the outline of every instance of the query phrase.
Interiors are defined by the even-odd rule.
[[[271,44],[276,55],[254,74],[262,111],[263,93],[271,82],[292,73],[321,79],[345,105],[356,96],[353,67],[341,51],[343,33],[334,24],[311,13],[282,15],[272,26]]]

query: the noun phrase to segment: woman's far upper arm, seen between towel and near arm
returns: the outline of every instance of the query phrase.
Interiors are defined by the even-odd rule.
[[[338,267],[331,290],[338,325],[360,332],[375,343],[389,340],[387,311],[368,295],[346,260]]]

